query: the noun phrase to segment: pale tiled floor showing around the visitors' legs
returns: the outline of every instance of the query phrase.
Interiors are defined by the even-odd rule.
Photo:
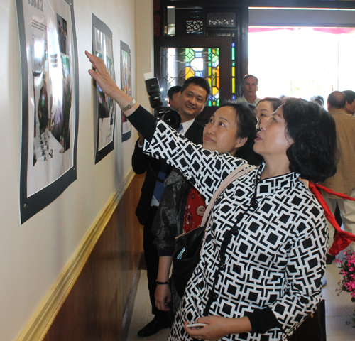
[[[332,265],[327,266],[325,278],[327,279],[327,286],[323,289],[323,298],[326,305],[327,341],[355,341],[355,328],[346,325],[346,321],[350,321],[350,315],[354,313],[355,303],[351,302],[349,293],[342,292],[338,296],[335,292],[337,283],[340,280],[339,270],[335,261],[333,261]],[[137,336],[138,330],[152,319],[153,315],[151,315],[146,271],[142,270],[127,340],[167,340],[169,328],[160,330],[158,334],[151,337],[142,338]]]

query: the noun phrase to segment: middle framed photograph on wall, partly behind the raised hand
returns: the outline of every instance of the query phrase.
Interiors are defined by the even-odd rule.
[[[104,60],[107,72],[116,81],[114,72],[114,50],[112,32],[97,16],[92,14],[92,49],[93,54]],[[97,84],[96,97],[97,132],[95,163],[98,163],[110,151],[114,150],[114,126],[116,121],[116,103],[101,90]]]

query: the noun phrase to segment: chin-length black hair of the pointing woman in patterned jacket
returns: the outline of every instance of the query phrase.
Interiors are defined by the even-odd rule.
[[[327,110],[305,99],[287,99],[283,105],[286,134],[293,139],[286,154],[290,171],[322,182],[337,173],[337,133]]]

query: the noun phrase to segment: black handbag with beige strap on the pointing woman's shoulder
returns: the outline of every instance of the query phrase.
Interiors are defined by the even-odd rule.
[[[248,163],[244,163],[229,174],[222,181],[221,185],[219,185],[212,200],[209,202],[200,227],[192,229],[190,232],[180,234],[180,236],[175,238],[173,272],[171,278],[180,297],[184,295],[187,282],[190,280],[192,273],[200,261],[200,251],[204,244],[204,235],[209,227],[209,212],[212,210],[214,202],[230,183],[236,180],[236,178],[239,178],[239,176],[253,171],[254,168],[256,167],[249,167]]]

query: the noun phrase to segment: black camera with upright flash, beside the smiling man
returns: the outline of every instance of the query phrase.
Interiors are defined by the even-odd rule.
[[[166,124],[173,129],[178,129],[181,123],[181,117],[175,110],[170,107],[162,107],[160,86],[158,78],[150,78],[146,80],[146,89],[149,95],[149,102],[154,109],[154,116],[162,119]]]

